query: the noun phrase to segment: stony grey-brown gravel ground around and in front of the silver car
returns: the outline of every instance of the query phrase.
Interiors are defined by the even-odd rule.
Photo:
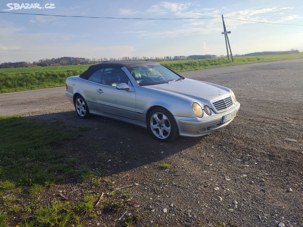
[[[240,111],[222,130],[170,143],[116,120],[82,120],[64,95],[33,100],[29,105],[45,108],[28,114],[41,120],[92,127],[53,149],[77,158],[79,167],[103,170],[105,179],[99,186],[66,179],[42,193],[42,204],[62,199],[59,191],[77,201],[88,190],[101,194],[108,186],[133,185],[125,189],[130,200],[105,195],[108,203],[123,199],[126,208],[105,212],[101,204],[85,226],[121,226],[135,213],[141,216],[135,226],[303,226],[302,77],[302,64],[272,62],[196,78],[231,88]],[[171,167],[161,169],[161,163]]]

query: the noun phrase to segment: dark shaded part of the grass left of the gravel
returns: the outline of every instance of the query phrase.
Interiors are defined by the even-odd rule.
[[[62,179],[71,168],[62,162],[65,154],[52,151],[51,145],[72,139],[72,133],[18,116],[0,116],[0,128],[0,191],[13,191],[19,184],[32,186],[30,193],[35,193],[38,185]]]

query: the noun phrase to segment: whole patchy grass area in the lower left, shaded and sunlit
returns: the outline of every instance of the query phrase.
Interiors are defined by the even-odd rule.
[[[0,227],[12,226],[16,221],[20,227],[82,227],[83,220],[98,217],[95,202],[100,195],[93,191],[85,192],[77,202],[54,200],[41,205],[41,198],[52,191],[49,187],[65,178],[78,176],[80,181],[92,183],[92,188],[112,182],[96,176],[88,166],[78,167],[76,158],[66,158],[55,149],[58,146],[53,146],[75,139],[79,130],[91,128],[49,125],[21,116],[0,116],[0,128]],[[123,191],[123,196],[130,195]],[[127,203],[112,200],[102,199],[100,208],[117,212],[127,207]],[[132,226],[135,222],[137,217],[126,223]]]

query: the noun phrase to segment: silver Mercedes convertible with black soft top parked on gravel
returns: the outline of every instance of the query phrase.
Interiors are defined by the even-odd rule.
[[[164,142],[223,128],[240,108],[229,88],[186,79],[150,61],[92,65],[66,79],[66,96],[81,118],[96,114],[135,124]]]

